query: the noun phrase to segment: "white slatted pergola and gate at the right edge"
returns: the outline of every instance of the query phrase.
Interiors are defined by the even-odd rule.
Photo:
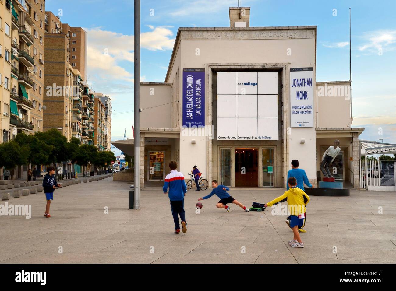
[[[367,161],[367,155],[396,154],[396,145],[376,141],[359,141],[360,148],[360,188],[367,190],[396,191],[396,178],[393,165],[382,167],[381,161]],[[362,155],[364,160],[362,161]]]

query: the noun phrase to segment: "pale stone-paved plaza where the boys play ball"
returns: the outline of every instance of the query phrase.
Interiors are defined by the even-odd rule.
[[[55,190],[51,219],[44,193],[10,198],[31,204],[32,217],[0,216],[2,263],[369,263],[396,262],[396,193],[351,190],[349,197],[311,196],[303,249],[287,246],[284,216],[215,207],[187,192],[187,234],[173,233],[169,199],[158,187],[141,191],[141,209],[128,209],[129,183],[112,178]],[[267,202],[284,189],[232,188],[245,205]],[[5,205],[6,201],[0,201]],[[378,214],[378,207],[383,214]],[[105,207],[109,213],[105,214]],[[336,247],[336,251],[335,250]],[[63,252],[61,252],[62,250]],[[243,250],[245,252],[243,253]]]

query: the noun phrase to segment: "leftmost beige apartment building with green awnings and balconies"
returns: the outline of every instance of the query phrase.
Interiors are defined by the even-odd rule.
[[[4,4],[3,4],[4,3]],[[2,141],[41,130],[44,76],[44,1],[5,0],[2,27]],[[3,29],[4,27],[4,29]],[[41,60],[41,62],[40,62]]]

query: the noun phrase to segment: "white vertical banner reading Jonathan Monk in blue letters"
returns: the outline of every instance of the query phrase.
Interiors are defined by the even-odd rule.
[[[291,127],[314,126],[314,88],[312,68],[290,68]]]

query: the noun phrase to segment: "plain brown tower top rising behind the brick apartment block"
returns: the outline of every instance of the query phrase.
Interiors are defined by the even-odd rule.
[[[84,81],[87,81],[88,34],[81,27],[70,27],[70,39],[70,63],[80,71]]]

